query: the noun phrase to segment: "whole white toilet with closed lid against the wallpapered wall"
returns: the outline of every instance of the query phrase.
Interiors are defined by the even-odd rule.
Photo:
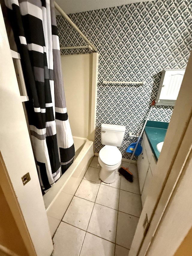
[[[121,146],[125,135],[124,125],[101,124],[101,143],[105,145],[99,151],[98,161],[101,165],[100,179],[105,183],[115,181],[115,170],[121,165]]]

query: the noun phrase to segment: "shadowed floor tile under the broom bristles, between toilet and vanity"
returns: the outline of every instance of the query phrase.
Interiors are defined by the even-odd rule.
[[[139,187],[139,178],[138,178],[138,176],[134,176],[133,177],[133,182],[129,182],[122,175],[120,189],[140,195],[140,187]]]

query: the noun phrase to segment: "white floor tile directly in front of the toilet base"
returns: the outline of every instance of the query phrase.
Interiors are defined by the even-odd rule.
[[[118,210],[119,189],[101,184],[95,203]]]

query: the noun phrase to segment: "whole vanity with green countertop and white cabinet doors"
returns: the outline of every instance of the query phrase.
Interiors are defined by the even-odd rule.
[[[153,182],[155,167],[160,155],[159,150],[164,141],[169,123],[147,121],[144,129],[143,140],[141,142],[142,152],[137,159],[137,169],[139,175],[140,193],[142,206],[145,203],[149,184]],[[159,144],[161,143],[161,144]]]

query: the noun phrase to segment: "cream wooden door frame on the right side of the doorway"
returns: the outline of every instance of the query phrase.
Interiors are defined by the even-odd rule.
[[[192,118],[191,81],[192,54],[187,63],[182,86],[167,129],[164,146],[155,169],[155,177],[148,190],[150,195],[147,196],[143,206],[129,256],[143,256],[146,254],[161,215],[165,210],[167,200],[181,175],[180,172],[184,168],[184,163],[186,163],[190,153],[192,136],[187,135],[187,133],[189,133],[189,125]],[[176,163],[177,166],[175,165]],[[143,223],[146,214],[150,226],[146,236],[144,236]]]

